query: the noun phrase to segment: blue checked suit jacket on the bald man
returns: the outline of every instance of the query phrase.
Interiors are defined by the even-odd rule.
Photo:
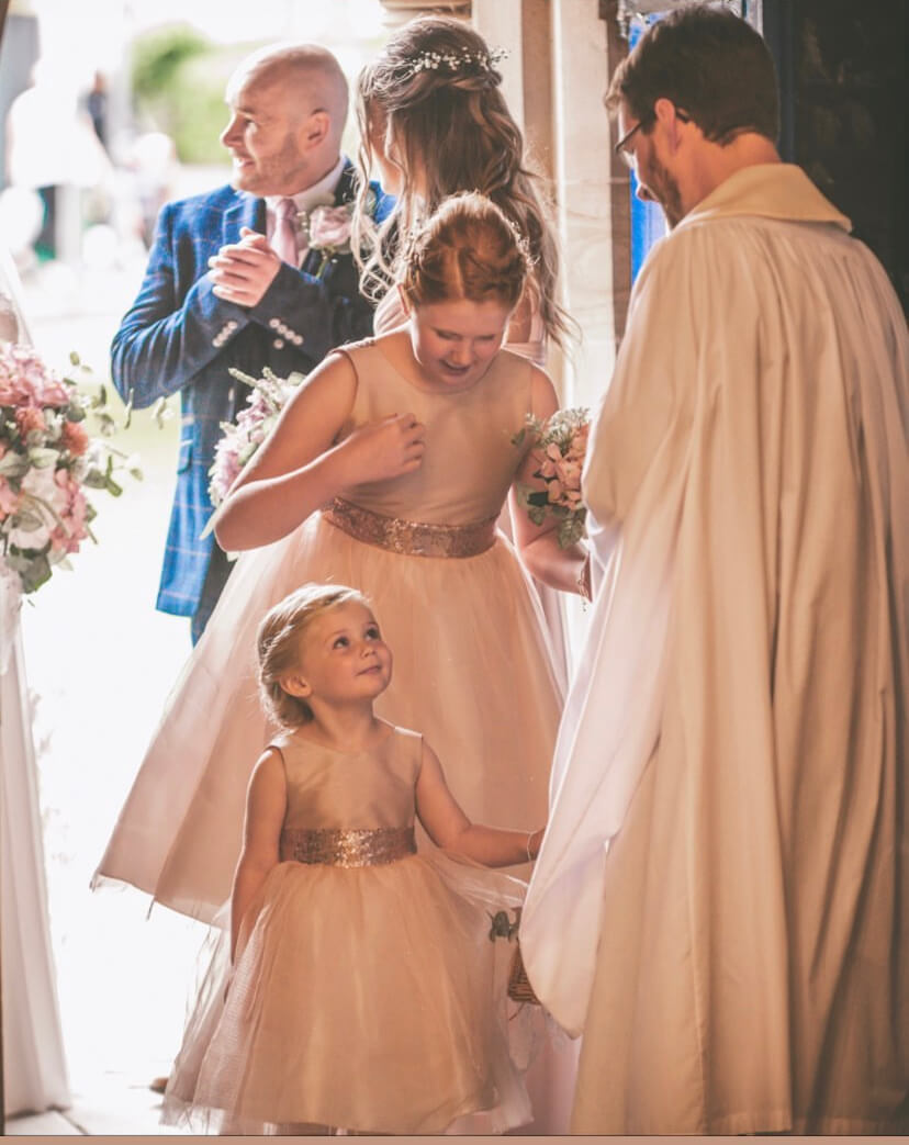
[[[373,190],[381,219],[392,200],[377,184]],[[354,168],[347,163],[335,204],[353,196]],[[139,297],[111,346],[113,384],[125,400],[132,394],[137,409],[180,390],[176,492],[157,607],[192,616],[195,638],[229,571],[214,538],[201,536],[213,511],[208,469],[220,426],[235,418],[248,395],[229,368],[255,377],[266,365],[279,376],[306,373],[333,347],[372,332],[372,306],[357,290],[350,254],[329,262],[318,278],[319,252],[310,251],[301,270],[283,263],[252,308],[216,298],[208,259],[238,242],[242,227],[264,232],[264,199],[222,187],[166,205]]]

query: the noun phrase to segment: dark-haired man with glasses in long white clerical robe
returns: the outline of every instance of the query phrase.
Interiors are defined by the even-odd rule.
[[[909,1129],[909,348],[728,11],[612,79],[672,230],[583,488],[602,567],[521,926],[572,1131]]]

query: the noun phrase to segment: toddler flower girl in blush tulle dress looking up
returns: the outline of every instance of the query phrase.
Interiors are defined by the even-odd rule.
[[[477,1111],[496,1130],[525,1123],[489,934],[523,884],[475,864],[535,856],[543,831],[472,823],[422,736],[377,718],[392,653],[361,593],[298,589],[258,648],[283,731],[250,781],[229,938],[165,1120],[234,1134],[435,1134]],[[416,852],[414,811],[444,850]]]

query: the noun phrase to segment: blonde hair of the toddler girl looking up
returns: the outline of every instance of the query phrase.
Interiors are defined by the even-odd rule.
[[[338,605],[370,602],[362,592],[342,584],[305,584],[266,613],[259,625],[259,690],[266,713],[280,727],[293,729],[313,719],[306,700],[280,686],[300,666],[300,638],[313,621]]]

